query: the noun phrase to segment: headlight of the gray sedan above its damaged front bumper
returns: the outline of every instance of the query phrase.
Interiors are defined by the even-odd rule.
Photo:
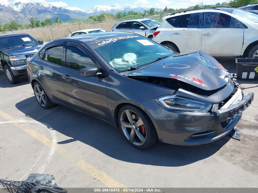
[[[202,101],[197,101],[189,98],[179,97],[176,95],[167,95],[155,99],[160,105],[167,109],[175,109],[189,112],[206,113],[211,108],[212,104]]]

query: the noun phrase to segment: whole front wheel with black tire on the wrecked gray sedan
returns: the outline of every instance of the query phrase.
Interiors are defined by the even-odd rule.
[[[122,127],[121,126],[121,121],[124,120],[124,114],[126,111],[130,111],[132,112],[131,115],[132,115],[132,120],[134,121],[134,123],[137,123],[137,121],[139,119],[142,120],[143,124],[140,126],[140,127],[137,127],[134,129],[133,128],[127,128],[127,127]],[[134,116],[133,116],[134,114]],[[126,114],[127,115],[127,114]],[[128,116],[126,116],[128,117]],[[135,119],[133,118],[135,117]],[[137,119],[138,118],[138,119]],[[134,125],[133,123],[133,125]],[[139,107],[136,107],[134,105],[124,105],[122,106],[122,108],[119,110],[118,112],[118,125],[119,125],[119,128],[120,130],[122,131],[122,134],[125,136],[126,140],[129,142],[130,145],[132,145],[134,148],[137,148],[137,149],[146,149],[146,148],[150,148],[151,146],[153,146],[157,141],[158,141],[158,135],[157,135],[157,132],[156,132],[156,129],[151,121],[151,119],[149,118],[149,116],[142,110],[140,109]],[[127,125],[127,124],[126,124]],[[132,124],[130,124],[132,125]],[[141,127],[144,127],[144,132],[142,132],[142,128]],[[125,131],[124,131],[125,130]],[[128,134],[131,133],[131,132],[135,132],[135,138],[133,138],[132,141],[134,141],[135,143],[138,143],[138,141],[140,141],[140,143],[142,143],[142,141],[140,140],[140,138],[138,137],[139,136],[139,132],[141,132],[142,136],[144,136],[145,138],[145,142],[141,145],[135,145],[133,144],[129,139],[128,139]],[[128,132],[128,133],[126,133]],[[136,133],[138,132],[138,134]],[[127,135],[126,135],[126,134]],[[130,134],[131,136],[131,134]],[[129,137],[130,138],[130,137]]]

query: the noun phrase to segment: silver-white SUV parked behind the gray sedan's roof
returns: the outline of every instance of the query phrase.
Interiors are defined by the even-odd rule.
[[[158,21],[151,19],[126,20],[116,23],[111,31],[131,32],[152,39],[153,32],[159,25]]]

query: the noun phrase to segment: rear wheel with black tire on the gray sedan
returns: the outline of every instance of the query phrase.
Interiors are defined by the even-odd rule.
[[[35,95],[35,98],[36,98],[38,104],[42,108],[49,109],[49,108],[55,106],[55,103],[50,101],[50,99],[49,99],[48,95],[46,94],[45,90],[43,89],[41,84],[39,84],[38,82],[34,83],[33,91],[34,91],[34,95]],[[42,94],[42,91],[43,91],[43,94]]]

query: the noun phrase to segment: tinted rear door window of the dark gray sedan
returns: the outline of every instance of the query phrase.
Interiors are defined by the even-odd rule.
[[[63,52],[63,45],[55,45],[53,47],[47,48],[45,51],[44,60],[61,66],[62,52]]]

